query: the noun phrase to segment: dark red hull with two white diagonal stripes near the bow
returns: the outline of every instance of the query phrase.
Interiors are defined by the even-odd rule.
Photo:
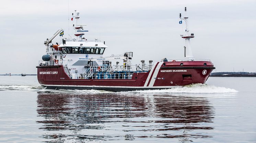
[[[131,79],[70,79],[61,65],[37,66],[37,78],[50,89],[132,91],[205,83],[213,69],[210,61],[158,62],[149,72],[133,73]]]

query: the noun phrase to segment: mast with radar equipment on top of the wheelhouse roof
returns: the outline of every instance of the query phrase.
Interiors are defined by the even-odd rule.
[[[73,24],[73,29],[75,30],[74,35],[77,36],[77,40],[82,40],[82,36],[84,35],[84,32],[88,32],[88,30],[83,30],[83,26],[86,26],[86,25],[79,23],[79,18],[80,18],[79,11],[75,10],[75,15],[72,13],[72,17],[75,18],[76,20],[75,25]]]

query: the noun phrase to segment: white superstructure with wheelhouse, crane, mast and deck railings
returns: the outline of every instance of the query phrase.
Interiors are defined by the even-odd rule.
[[[72,20],[75,20],[73,25],[74,38],[63,38],[59,45],[50,45],[51,41],[58,35],[63,36],[63,30],[59,29],[52,38],[45,41],[47,58],[44,61],[39,61],[39,65],[56,66],[63,65],[65,72],[70,78],[92,78],[94,72],[109,73],[113,71],[148,71],[152,67],[152,61],[149,66],[131,65],[133,52],[126,52],[120,55],[105,56],[104,52],[108,48],[105,42],[102,43],[98,39],[87,40],[83,38],[84,26],[79,23],[79,12],[75,11],[72,14]]]

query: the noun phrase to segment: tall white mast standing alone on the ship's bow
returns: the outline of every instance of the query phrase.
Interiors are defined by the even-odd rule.
[[[187,7],[185,7],[185,13],[187,13]],[[185,46],[184,46],[184,56],[185,58],[194,60],[195,57],[193,57],[192,49],[190,45],[190,38],[194,38],[194,33],[189,34],[188,30],[188,17],[185,15],[185,17],[181,17],[181,13],[179,14],[179,18],[185,21],[186,29],[185,29],[185,35],[181,35],[182,38],[185,39]]]

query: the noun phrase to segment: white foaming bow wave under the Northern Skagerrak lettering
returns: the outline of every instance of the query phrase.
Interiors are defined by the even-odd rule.
[[[183,87],[175,87],[171,89],[161,89],[161,90],[137,90],[137,91],[129,91],[129,92],[137,92],[137,93],[231,93],[238,92],[235,89],[225,88],[225,87],[217,87],[214,85],[207,84],[191,84]],[[124,93],[124,92],[120,92]]]

